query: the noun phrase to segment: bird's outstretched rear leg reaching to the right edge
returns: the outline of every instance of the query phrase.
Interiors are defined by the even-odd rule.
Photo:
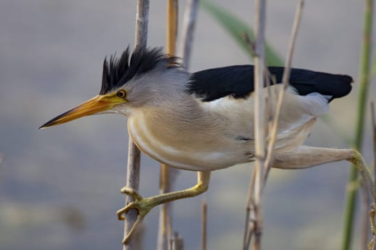
[[[279,169],[305,169],[339,160],[347,160],[357,167],[359,174],[361,174],[370,192],[373,194],[373,199],[376,199],[370,171],[361,153],[355,149],[327,149],[301,146],[296,149],[276,150],[272,167]]]

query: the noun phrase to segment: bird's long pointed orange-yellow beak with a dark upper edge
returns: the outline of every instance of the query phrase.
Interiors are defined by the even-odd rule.
[[[63,114],[58,115],[54,119],[49,120],[48,122],[40,126],[40,128],[47,128],[49,126],[64,124],[65,122],[70,122],[74,119],[78,119],[87,115],[95,115],[96,113],[110,110],[118,103],[119,102],[113,101],[111,97],[97,95],[96,97],[93,97],[92,99],[80,104],[76,108],[72,108],[71,110],[68,110]]]

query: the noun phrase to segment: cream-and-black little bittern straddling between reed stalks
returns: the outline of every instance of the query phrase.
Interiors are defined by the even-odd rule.
[[[127,117],[127,129],[136,147],[146,156],[170,167],[197,172],[196,185],[186,190],[143,198],[131,188],[121,192],[134,197],[118,210],[125,219],[136,208],[136,224],[155,206],[195,197],[207,190],[210,173],[256,159],[254,138],[254,83],[252,65],[234,65],[190,73],[180,58],[162,48],[127,47],[120,57],[104,58],[100,93],[49,120],[40,128],[56,126],[97,114]],[[267,67],[265,102],[276,107],[276,95],[284,67]],[[352,77],[292,68],[285,91],[274,146],[272,166],[305,169],[347,160],[364,169],[354,149],[308,147],[304,141],[316,119],[334,99],[352,90]],[[264,117],[265,121],[267,116]]]

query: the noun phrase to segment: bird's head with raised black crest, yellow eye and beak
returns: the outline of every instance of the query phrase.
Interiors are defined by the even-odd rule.
[[[129,47],[120,58],[104,58],[100,94],[49,120],[40,128],[63,124],[87,115],[128,115],[132,108],[157,105],[161,99],[168,98],[166,90],[176,88],[171,75],[178,78],[187,75],[181,70],[177,59],[162,53],[160,48],[136,48],[131,55]]]

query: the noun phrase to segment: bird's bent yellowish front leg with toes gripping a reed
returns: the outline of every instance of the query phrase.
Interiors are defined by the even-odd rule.
[[[123,214],[127,213],[127,211],[132,208],[135,208],[139,213],[139,216],[137,217],[136,222],[134,222],[130,230],[130,233],[128,233],[128,235],[124,238],[123,244],[125,244],[125,242],[127,242],[127,240],[130,239],[130,236],[134,232],[136,226],[138,226],[138,224],[142,221],[143,217],[145,217],[145,215],[147,215],[150,212],[150,210],[152,210],[152,208],[169,201],[195,197],[198,194],[202,194],[209,187],[209,181],[210,172],[197,172],[197,184],[194,185],[192,188],[175,192],[169,192],[166,194],[159,194],[154,197],[148,198],[141,197],[141,195],[132,188],[122,188],[120,192],[122,192],[123,194],[131,195],[134,198],[134,201],[127,204],[127,206],[125,206],[124,208],[118,210],[118,219],[124,220],[125,216]]]

